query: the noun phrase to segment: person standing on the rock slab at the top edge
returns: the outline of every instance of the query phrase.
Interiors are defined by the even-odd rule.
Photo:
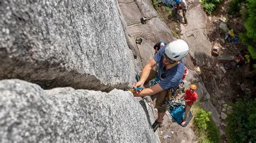
[[[187,26],[187,17],[186,17],[186,12],[187,12],[187,2],[185,0],[175,0],[176,2],[176,7],[174,7],[174,13],[178,14],[178,10],[182,10],[182,14],[184,17],[184,26]]]

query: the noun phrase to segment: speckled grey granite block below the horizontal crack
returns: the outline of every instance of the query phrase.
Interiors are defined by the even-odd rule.
[[[130,92],[0,81],[1,142],[158,142]]]

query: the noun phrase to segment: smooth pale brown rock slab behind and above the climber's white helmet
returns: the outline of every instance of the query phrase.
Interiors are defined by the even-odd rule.
[[[160,16],[148,0],[124,1],[118,0],[120,10],[129,28],[130,43],[138,54],[144,67],[154,55],[154,45],[159,41],[166,44],[175,38],[168,26],[160,20]],[[140,22],[140,18],[147,17],[146,24]],[[136,39],[142,38],[141,44],[136,44]],[[138,66],[136,66],[138,67]],[[140,71],[141,69],[136,69]]]

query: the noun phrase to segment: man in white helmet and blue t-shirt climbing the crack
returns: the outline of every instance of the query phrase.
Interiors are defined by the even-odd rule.
[[[165,111],[169,108],[164,104],[165,95],[170,88],[177,87],[184,75],[184,65],[181,61],[188,53],[188,45],[184,40],[178,39],[170,44],[160,48],[156,55],[147,62],[142,72],[139,73],[140,80],[133,84],[132,88],[148,87],[149,81],[159,77],[160,82],[151,88],[143,90],[134,90],[134,97],[144,97],[157,94],[156,108],[158,109],[158,118],[152,125],[153,130],[162,124]],[[156,66],[158,64],[158,66]]]

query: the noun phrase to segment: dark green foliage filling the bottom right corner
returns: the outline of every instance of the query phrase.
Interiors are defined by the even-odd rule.
[[[233,114],[228,116],[227,133],[230,142],[255,142],[256,99],[246,99],[235,104]]]

